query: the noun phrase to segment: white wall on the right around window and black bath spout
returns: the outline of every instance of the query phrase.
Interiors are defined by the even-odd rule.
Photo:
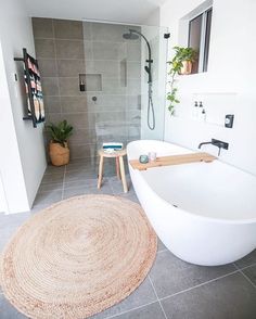
[[[161,24],[169,25],[170,47],[183,46],[180,18],[203,1],[169,0],[161,9]],[[214,0],[208,72],[180,76],[177,116],[166,111],[165,140],[197,149],[217,138],[230,143],[221,160],[256,174],[256,2]],[[170,51],[170,50],[169,50]],[[195,100],[203,101],[207,123],[192,119]],[[226,114],[234,114],[232,129],[223,128]],[[214,146],[205,148],[216,154]]]

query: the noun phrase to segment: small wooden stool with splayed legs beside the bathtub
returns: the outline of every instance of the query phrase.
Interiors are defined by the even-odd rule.
[[[128,188],[126,182],[126,173],[123,158],[123,156],[126,155],[126,150],[115,151],[113,153],[106,153],[103,150],[99,150],[98,153],[100,155],[98,189],[101,188],[102,183],[104,157],[113,157],[116,160],[116,175],[119,179],[121,179],[124,192],[127,193]]]

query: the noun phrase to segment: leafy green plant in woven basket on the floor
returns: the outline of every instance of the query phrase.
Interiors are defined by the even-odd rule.
[[[57,125],[50,124],[48,128],[51,133],[49,155],[54,166],[62,166],[69,163],[69,149],[67,139],[72,136],[73,127],[64,119]]]

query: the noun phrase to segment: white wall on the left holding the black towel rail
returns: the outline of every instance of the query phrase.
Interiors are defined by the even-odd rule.
[[[23,120],[24,92],[21,82],[14,81],[14,74],[22,73],[22,63],[13,58],[22,56],[23,48],[35,55],[31,21],[23,1],[1,0],[0,41],[1,175],[9,210],[16,213],[29,209],[46,169],[42,125],[35,129]]]

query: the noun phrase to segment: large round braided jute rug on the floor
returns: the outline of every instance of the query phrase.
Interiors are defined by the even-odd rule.
[[[111,195],[72,197],[17,230],[2,254],[0,282],[29,318],[87,318],[140,285],[156,242],[138,204]]]

